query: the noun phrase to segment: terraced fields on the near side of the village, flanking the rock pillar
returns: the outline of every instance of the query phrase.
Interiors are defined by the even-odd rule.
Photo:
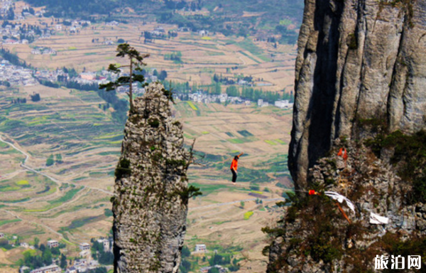
[[[0,165],[0,230],[27,242],[34,237],[62,240],[70,255],[77,255],[78,243],[111,229],[109,198],[123,127],[114,123],[111,112],[99,109],[103,102],[95,92],[58,90],[66,94],[58,97],[48,91],[41,93],[40,102],[24,105],[9,100],[26,90],[12,95],[0,91],[0,159],[9,162]],[[276,215],[264,205],[271,208],[285,190],[277,184],[279,172],[286,172],[290,112],[177,102],[175,113],[184,124],[186,143],[197,139],[197,164],[190,168],[190,178],[204,192],[190,202],[188,238],[197,235],[197,242],[207,244],[250,242],[247,263],[257,267],[264,259],[264,242],[253,242],[253,236],[263,237],[261,227]],[[229,159],[239,151],[245,154],[234,186],[229,183]],[[54,164],[46,166],[50,156]],[[267,188],[270,201],[255,203],[249,189],[255,184],[261,191]],[[240,200],[246,200],[245,208],[239,208]],[[187,241],[190,247],[194,242]]]

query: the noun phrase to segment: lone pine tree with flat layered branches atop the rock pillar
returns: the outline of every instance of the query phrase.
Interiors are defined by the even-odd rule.
[[[116,55],[117,57],[129,59],[129,65],[117,66],[116,64],[111,63],[108,71],[120,74],[122,72],[121,68],[129,68],[129,76],[123,75],[118,77],[114,82],[99,85],[99,89],[111,91],[116,90],[116,88],[120,86],[129,86],[129,92],[126,92],[126,94],[129,95],[130,112],[133,112],[133,83],[142,83],[145,81],[145,77],[143,77],[142,73],[138,72],[142,71],[142,65],[146,65],[143,63],[143,58],[148,58],[149,54],[141,54],[138,50],[130,46],[129,43],[119,44],[116,51],[118,52]]]

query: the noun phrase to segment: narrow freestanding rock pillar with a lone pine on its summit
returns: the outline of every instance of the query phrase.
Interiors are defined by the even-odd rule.
[[[163,85],[149,85],[134,108],[116,168],[114,272],[178,272],[190,154]]]

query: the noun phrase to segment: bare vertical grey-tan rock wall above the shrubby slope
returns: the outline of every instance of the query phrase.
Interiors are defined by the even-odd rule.
[[[298,48],[289,151],[297,188],[334,139],[360,137],[359,121],[409,134],[426,127],[426,1],[305,0]]]

